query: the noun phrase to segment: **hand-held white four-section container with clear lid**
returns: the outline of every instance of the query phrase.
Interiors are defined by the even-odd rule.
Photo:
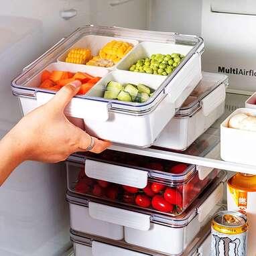
[[[27,113],[35,109],[36,106],[48,102],[54,96],[56,92],[36,86],[35,81],[38,75],[59,58],[62,60],[63,54],[68,49],[76,46],[80,40],[85,40],[84,38],[88,36],[95,40],[99,37],[99,41],[106,36],[138,41],[139,44],[119,62],[119,65],[123,65],[121,69],[117,71],[114,67],[113,70],[122,74],[123,80],[120,82],[142,81],[155,91],[144,103],[110,100],[102,97],[106,84],[99,81],[98,84],[95,84],[95,88],[92,87],[87,94],[77,95],[72,99],[70,105],[66,107],[66,115],[84,120],[86,130],[101,139],[148,147],[174,117],[176,109],[182,105],[202,78],[201,54],[204,50],[202,39],[196,36],[183,36],[167,32],[93,25],[77,29],[68,38],[60,40],[46,54],[24,68],[23,72],[13,80],[12,90],[19,97],[23,112]],[[155,51],[159,49],[156,52],[159,54],[166,54],[167,50],[172,54],[179,50],[186,57],[168,76],[127,70],[125,65],[127,65],[129,56],[133,56],[133,60],[137,61],[136,54],[134,55],[133,52],[143,48],[143,56],[146,57],[147,52],[151,53],[152,46]],[[137,57],[139,58],[139,56]],[[104,69],[107,70],[107,68]],[[117,80],[117,82],[119,81]],[[90,111],[86,111],[86,109],[90,109]]]

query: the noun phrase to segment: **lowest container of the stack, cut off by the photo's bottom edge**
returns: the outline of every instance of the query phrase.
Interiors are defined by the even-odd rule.
[[[192,241],[184,253],[180,256],[209,256],[211,236],[210,229],[206,229],[200,236]],[[70,239],[74,243],[76,256],[164,256],[166,254],[155,253],[141,247],[128,245],[125,242],[115,242],[101,239],[91,235],[84,235],[70,231]],[[169,254],[170,255],[170,254]],[[71,256],[71,255],[70,255]],[[171,256],[171,255],[170,255]]]

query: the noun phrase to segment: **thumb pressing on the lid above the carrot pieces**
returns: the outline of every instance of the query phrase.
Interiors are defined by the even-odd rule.
[[[76,93],[80,90],[81,82],[76,80],[74,82],[70,82],[63,86],[56,95],[50,101],[50,104],[54,105],[54,109],[60,109],[63,111],[70,103],[71,99],[76,95]]]

